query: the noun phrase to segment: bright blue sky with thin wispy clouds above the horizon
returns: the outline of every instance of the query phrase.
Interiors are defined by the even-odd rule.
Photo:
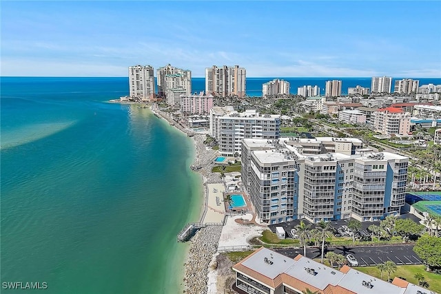
[[[441,1],[1,1],[1,76],[441,77]]]

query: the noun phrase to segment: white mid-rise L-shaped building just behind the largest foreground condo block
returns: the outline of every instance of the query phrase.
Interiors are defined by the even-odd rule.
[[[274,140],[280,136],[280,115],[260,115],[254,109],[235,112],[232,107],[212,107],[209,125],[223,156],[240,156],[244,138]]]

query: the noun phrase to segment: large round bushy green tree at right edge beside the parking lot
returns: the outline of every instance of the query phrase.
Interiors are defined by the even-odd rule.
[[[441,266],[441,238],[424,234],[417,240],[413,251],[424,261],[428,271]]]

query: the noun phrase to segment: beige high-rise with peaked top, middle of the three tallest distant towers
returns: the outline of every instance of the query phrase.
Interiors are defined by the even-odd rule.
[[[167,91],[169,93],[178,92],[174,96],[192,94],[192,72],[189,70],[182,70],[181,68],[168,64],[158,68],[156,71],[156,79],[158,83],[158,96],[160,97],[167,97]],[[172,101],[171,98],[170,101]],[[179,99],[176,98],[174,101],[177,101],[177,103],[173,105],[179,107]],[[169,105],[172,104],[169,103]]]

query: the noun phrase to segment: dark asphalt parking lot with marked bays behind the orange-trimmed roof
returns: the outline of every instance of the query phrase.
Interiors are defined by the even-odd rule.
[[[279,253],[294,258],[296,255],[303,254],[303,249],[277,249]],[[387,245],[387,246],[338,246],[335,248],[325,248],[327,252],[347,255],[352,254],[360,266],[376,266],[391,260],[397,265],[422,264],[422,260],[413,252],[413,244]],[[318,248],[307,248],[307,258],[320,258],[321,250]]]

